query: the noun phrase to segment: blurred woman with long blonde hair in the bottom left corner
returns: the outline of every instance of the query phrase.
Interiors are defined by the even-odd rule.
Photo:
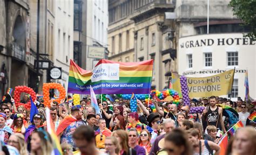
[[[16,147],[21,155],[27,155],[28,151],[26,150],[26,143],[24,135],[22,133],[11,134],[8,145]]]

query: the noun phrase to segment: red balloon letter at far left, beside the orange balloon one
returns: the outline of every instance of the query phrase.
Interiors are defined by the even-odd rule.
[[[16,107],[18,107],[19,105],[24,105],[24,107],[26,109],[30,109],[31,108],[30,99],[29,99],[29,102],[26,103],[26,104],[20,103],[21,102],[20,96],[21,96],[22,92],[28,93],[31,96],[33,101],[36,100],[36,92],[33,91],[33,89],[31,87],[28,87],[28,86],[16,86],[15,87],[14,100],[15,100]]]

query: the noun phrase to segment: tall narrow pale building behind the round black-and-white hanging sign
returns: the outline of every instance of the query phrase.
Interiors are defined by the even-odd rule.
[[[52,2],[52,1],[49,1]],[[55,2],[55,4],[54,4]],[[62,84],[68,90],[69,81],[69,65],[70,59],[73,59],[73,5],[72,0],[54,1],[52,8],[55,12],[54,24],[49,24],[53,32],[50,33],[49,39],[49,55],[53,60],[53,66],[62,68],[62,77],[54,82]],[[50,20],[48,20],[50,21]],[[67,24],[69,23],[69,24]],[[48,30],[49,30],[48,29]],[[53,45],[51,45],[53,44]],[[52,51],[53,50],[53,51]],[[50,54],[51,53],[51,54]],[[51,57],[52,55],[52,57]]]

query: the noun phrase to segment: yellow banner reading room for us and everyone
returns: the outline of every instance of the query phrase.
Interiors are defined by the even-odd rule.
[[[198,98],[228,95],[232,89],[233,76],[234,69],[209,77],[186,77],[189,96],[190,98]],[[181,92],[179,77],[178,73],[172,73],[172,87]]]

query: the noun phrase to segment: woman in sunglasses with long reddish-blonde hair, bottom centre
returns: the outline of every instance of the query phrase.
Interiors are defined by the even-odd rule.
[[[139,137],[139,146],[144,147],[146,150],[147,154],[150,153],[151,150],[151,143],[150,143],[150,133],[147,130],[142,130],[142,133],[140,133]]]

